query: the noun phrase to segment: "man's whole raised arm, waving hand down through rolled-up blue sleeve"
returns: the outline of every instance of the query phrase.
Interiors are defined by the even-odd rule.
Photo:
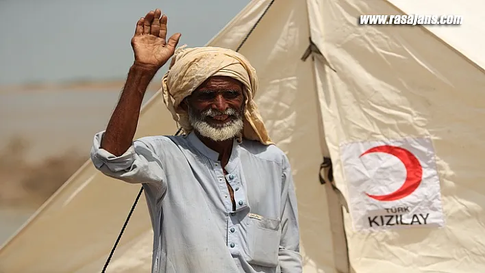
[[[160,10],[149,12],[136,23],[132,38],[135,60],[119,103],[105,131],[95,135],[91,149],[92,163],[109,177],[129,183],[150,183],[162,195],[166,177],[160,147],[148,139],[133,141],[143,96],[158,69],[175,52],[180,34],[166,38],[166,16]]]

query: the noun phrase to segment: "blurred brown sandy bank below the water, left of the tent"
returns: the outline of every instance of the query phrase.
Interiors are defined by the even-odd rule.
[[[86,159],[66,151],[28,163],[25,146],[16,138],[0,153],[0,246]]]

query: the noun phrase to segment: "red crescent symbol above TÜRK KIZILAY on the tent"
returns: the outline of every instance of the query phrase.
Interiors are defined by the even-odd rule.
[[[367,196],[380,201],[399,200],[412,194],[421,184],[423,179],[423,167],[419,163],[419,160],[405,148],[390,145],[377,146],[365,151],[360,157],[369,153],[388,153],[394,155],[404,164],[407,175],[403,185],[395,192],[386,195],[371,195],[365,193]]]

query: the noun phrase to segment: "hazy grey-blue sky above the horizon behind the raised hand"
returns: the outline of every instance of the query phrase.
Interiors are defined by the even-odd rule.
[[[249,0],[0,0],[0,86],[120,79],[136,21],[160,8],[179,45],[203,46]],[[162,70],[161,70],[162,71]]]

